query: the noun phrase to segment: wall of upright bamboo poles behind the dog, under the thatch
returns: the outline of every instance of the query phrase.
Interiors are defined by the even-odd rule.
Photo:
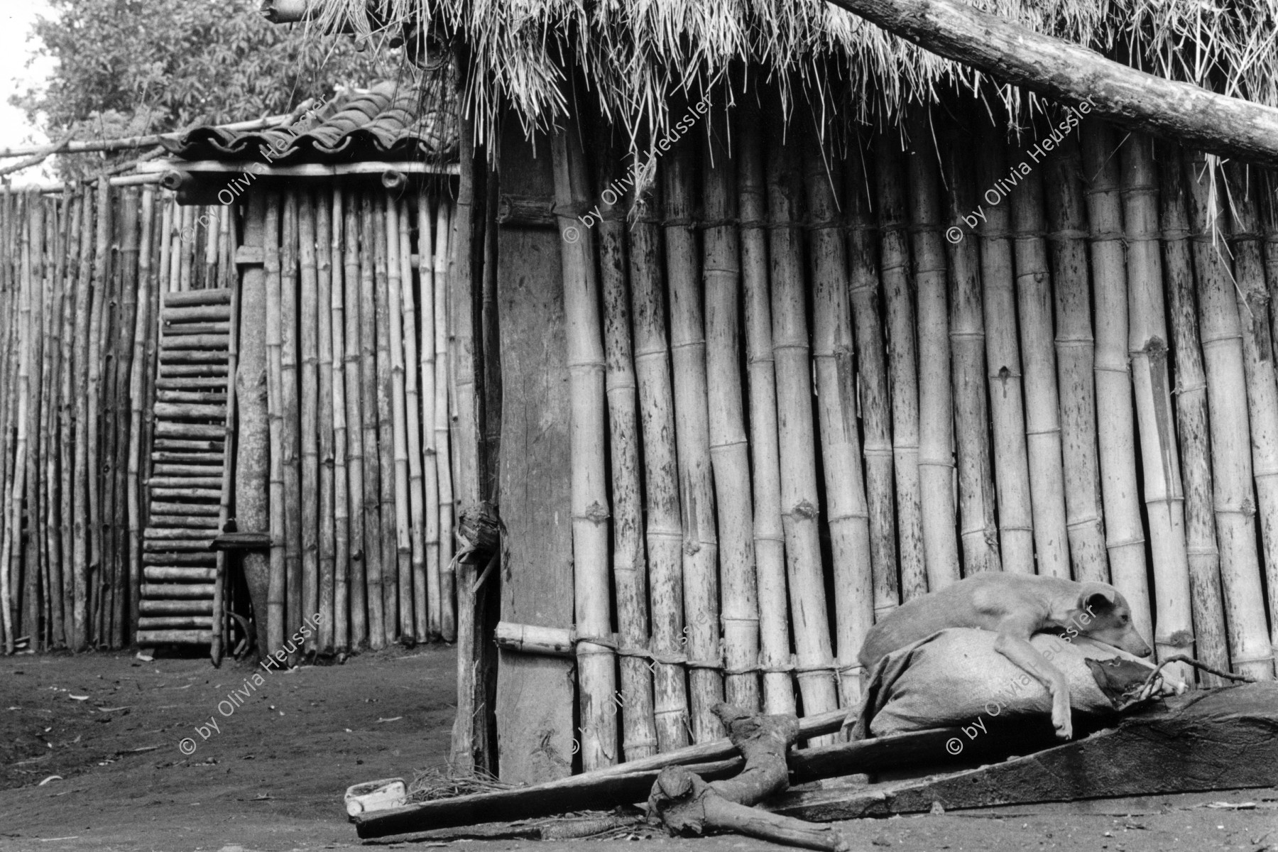
[[[1160,658],[1272,678],[1270,175],[1091,120],[1019,147],[960,105],[902,149],[780,112],[712,110],[639,204],[604,138],[551,146],[566,396],[502,420],[564,413],[539,487],[571,498],[537,511],[574,519],[575,632],[507,604],[497,640],[578,658],[552,745],[594,769],[721,736],[725,697],[850,706],[875,617],[978,571],[1113,582]],[[567,772],[501,690],[504,779]]]

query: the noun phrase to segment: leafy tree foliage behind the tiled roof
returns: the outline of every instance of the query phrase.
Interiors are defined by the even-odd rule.
[[[349,36],[273,26],[257,0],[52,0],[37,52],[56,60],[43,88],[10,97],[50,139],[114,138],[288,112],[336,86],[394,75],[397,59]],[[64,178],[123,155],[61,157]]]

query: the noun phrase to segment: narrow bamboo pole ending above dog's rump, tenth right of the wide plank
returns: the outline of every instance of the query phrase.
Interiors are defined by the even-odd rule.
[[[875,139],[879,202],[879,255],[887,307],[888,379],[892,395],[892,465],[901,554],[901,600],[928,591],[923,553],[923,510],[919,483],[919,365],[910,278],[905,167],[901,143],[881,133]]]

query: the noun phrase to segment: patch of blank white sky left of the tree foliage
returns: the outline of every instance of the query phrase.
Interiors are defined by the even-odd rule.
[[[0,148],[20,144],[41,144],[49,142],[43,133],[27,123],[22,110],[9,106],[9,96],[26,92],[28,87],[42,82],[52,70],[52,61],[42,59],[31,68],[27,60],[35,52],[35,43],[28,42],[31,26],[36,15],[51,17],[46,0],[0,0]],[[0,165],[15,160],[0,160]],[[51,180],[51,175],[36,166],[8,175],[15,186]]]

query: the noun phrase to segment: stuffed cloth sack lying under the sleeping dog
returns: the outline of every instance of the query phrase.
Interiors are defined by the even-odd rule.
[[[849,719],[852,738],[967,724],[978,717],[1051,717],[1047,687],[994,650],[997,639],[988,630],[942,630],[884,657]],[[1038,634],[1030,644],[1065,674],[1076,713],[1114,714],[1128,706],[1123,692],[1154,668],[1084,636]],[[1183,690],[1183,683],[1166,676],[1155,695]]]

